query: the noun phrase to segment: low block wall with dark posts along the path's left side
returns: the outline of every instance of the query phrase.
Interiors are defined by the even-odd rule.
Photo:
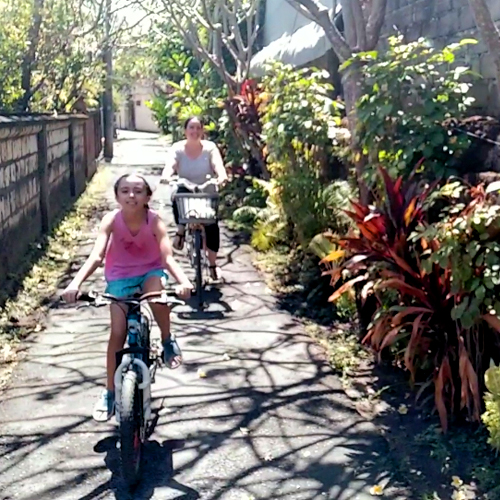
[[[0,282],[85,189],[101,150],[99,113],[0,116]]]

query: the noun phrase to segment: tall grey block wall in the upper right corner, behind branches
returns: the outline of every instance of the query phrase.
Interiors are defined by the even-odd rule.
[[[493,19],[500,24],[500,0],[487,0]],[[429,38],[436,46],[457,42],[462,38],[475,38],[477,45],[464,51],[464,62],[483,79],[475,82],[473,94],[477,107],[500,116],[500,102],[495,90],[494,66],[486,46],[476,29],[469,0],[388,0],[384,37],[395,34],[395,28],[408,41]]]

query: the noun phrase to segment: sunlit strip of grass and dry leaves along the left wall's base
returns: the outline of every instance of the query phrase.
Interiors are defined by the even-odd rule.
[[[18,361],[22,340],[43,329],[58,285],[81,245],[90,241],[87,230],[107,209],[103,196],[107,180],[107,171],[99,170],[50,234],[31,246],[25,259],[27,272],[9,276],[11,282],[17,282],[17,292],[1,298],[0,388],[5,386]]]

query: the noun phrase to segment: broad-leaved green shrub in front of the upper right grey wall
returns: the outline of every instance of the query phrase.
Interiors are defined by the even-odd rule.
[[[389,38],[387,51],[357,54],[344,67],[360,63],[364,95],[357,104],[359,140],[369,165],[384,166],[391,176],[408,176],[421,159],[430,177],[454,173],[469,146],[465,134],[445,126],[463,116],[473,102],[468,93],[471,72],[456,66],[456,52],[475,40],[462,40],[439,50],[419,39],[403,43]],[[369,181],[377,172],[368,168]]]

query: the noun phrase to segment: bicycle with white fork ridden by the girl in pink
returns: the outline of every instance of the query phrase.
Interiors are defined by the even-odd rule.
[[[127,346],[116,353],[115,417],[120,426],[122,477],[129,488],[141,477],[143,446],[151,420],[151,385],[161,364],[161,351],[151,345],[151,319],[142,308],[145,301],[170,307],[184,304],[169,290],[117,298],[83,293],[78,298],[88,306],[110,303],[127,306]]]

